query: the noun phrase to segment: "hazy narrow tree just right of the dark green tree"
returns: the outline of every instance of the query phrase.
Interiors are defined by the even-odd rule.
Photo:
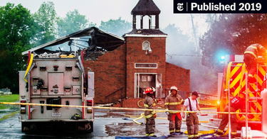
[[[36,46],[55,40],[58,17],[53,2],[43,2],[38,11],[33,14],[33,17],[39,25]]]

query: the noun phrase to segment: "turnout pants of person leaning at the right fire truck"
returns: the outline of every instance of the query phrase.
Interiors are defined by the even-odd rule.
[[[224,112],[229,112],[229,106],[226,106],[224,108]],[[230,108],[230,112],[236,112],[236,110],[234,108]],[[223,114],[221,119],[222,120],[221,120],[220,126],[217,130],[217,133],[219,135],[221,135],[221,133],[224,132],[224,128],[226,127],[229,121],[229,115]],[[237,121],[236,114],[231,114],[231,135],[236,135],[236,121]]]

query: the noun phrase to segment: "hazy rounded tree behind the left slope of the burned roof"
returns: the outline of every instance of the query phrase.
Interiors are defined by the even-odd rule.
[[[89,23],[89,19],[80,15],[77,9],[74,11],[68,11],[66,17],[61,18],[58,21],[58,36],[61,38],[70,33],[75,33],[91,26],[95,26],[95,23]]]

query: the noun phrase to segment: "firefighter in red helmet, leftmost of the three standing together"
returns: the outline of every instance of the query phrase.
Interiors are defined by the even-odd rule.
[[[155,89],[153,87],[147,87],[145,89],[145,104],[146,109],[154,109],[155,99],[154,99]],[[145,135],[151,137],[157,137],[154,135],[155,132],[155,118],[157,117],[156,111],[145,111]]]

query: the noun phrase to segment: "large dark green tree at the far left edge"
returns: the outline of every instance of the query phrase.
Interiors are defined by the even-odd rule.
[[[0,87],[19,92],[18,71],[25,67],[21,52],[31,48],[36,23],[30,11],[7,3],[0,7]]]

